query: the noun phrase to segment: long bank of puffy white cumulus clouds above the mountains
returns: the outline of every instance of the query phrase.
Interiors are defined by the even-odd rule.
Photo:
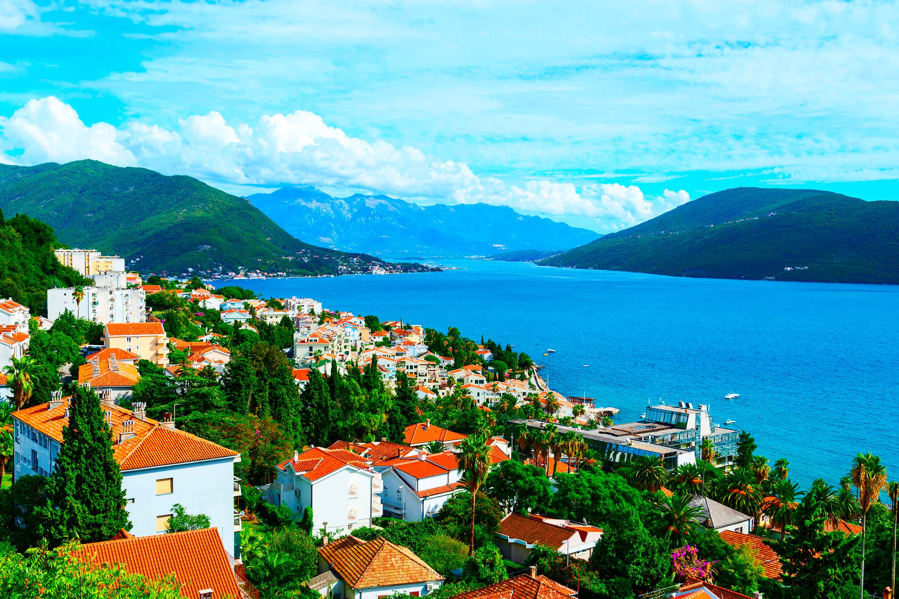
[[[513,184],[480,177],[465,163],[412,146],[347,136],[305,110],[263,115],[252,124],[228,123],[211,111],[179,119],[177,130],[139,121],[116,128],[103,122],[87,126],[75,109],[51,96],[0,118],[0,150],[21,151],[18,160],[25,164],[93,158],[191,174],[213,184],[303,183],[427,202],[483,202],[531,214],[585,216],[607,230],[636,225],[690,199],[682,189],[646,198],[636,185],[592,183],[577,189],[570,182]]]

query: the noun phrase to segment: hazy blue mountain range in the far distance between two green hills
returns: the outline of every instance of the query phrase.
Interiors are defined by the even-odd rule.
[[[401,257],[486,256],[573,248],[599,234],[487,204],[419,206],[387,196],[334,198],[289,187],[247,199],[288,233],[343,251]]]

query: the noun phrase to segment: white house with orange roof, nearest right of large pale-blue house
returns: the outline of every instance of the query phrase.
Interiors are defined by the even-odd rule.
[[[312,508],[312,530],[349,533],[383,515],[381,475],[348,449],[310,447],[280,462],[269,489],[271,503],[298,514]]]

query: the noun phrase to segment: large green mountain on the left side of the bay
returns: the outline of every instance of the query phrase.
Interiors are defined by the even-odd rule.
[[[192,177],[93,160],[0,164],[0,209],[39,218],[60,242],[117,253],[144,271],[322,275],[397,268],[300,242],[246,199]]]

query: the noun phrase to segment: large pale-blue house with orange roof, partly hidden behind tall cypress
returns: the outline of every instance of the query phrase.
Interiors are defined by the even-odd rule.
[[[49,403],[13,412],[13,480],[28,474],[49,476],[68,426],[68,401],[54,392]],[[178,430],[174,419],[147,417],[146,406],[126,410],[102,395],[103,418],[110,426],[112,453],[119,463],[125,491],[130,533],[165,533],[172,507],[181,504],[189,514],[205,514],[218,529],[229,554],[240,557],[240,517],[234,498],[240,486],[234,464],[240,454]]]

